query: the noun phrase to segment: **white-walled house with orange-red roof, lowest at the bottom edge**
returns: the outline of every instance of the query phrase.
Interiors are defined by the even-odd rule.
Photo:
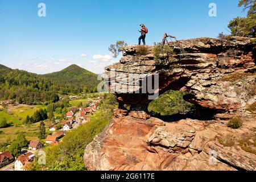
[[[18,156],[14,163],[15,171],[25,171],[24,167],[26,166],[26,164],[33,162],[34,158],[35,154],[32,154],[32,152],[27,152],[27,154],[22,154]]]

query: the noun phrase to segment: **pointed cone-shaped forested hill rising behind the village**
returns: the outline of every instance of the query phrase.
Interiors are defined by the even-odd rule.
[[[49,78],[57,87],[61,88],[61,92],[65,93],[97,92],[97,85],[100,82],[95,73],[76,64],[72,64],[60,72],[42,76]]]

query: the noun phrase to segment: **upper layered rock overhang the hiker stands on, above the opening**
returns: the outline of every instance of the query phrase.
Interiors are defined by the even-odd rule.
[[[179,55],[179,45],[186,53]],[[152,100],[150,93],[142,92],[140,82],[155,75],[159,75],[159,88],[154,93],[188,91],[185,100],[214,111],[244,110],[255,102],[256,44],[250,38],[197,38],[169,46],[175,53],[171,57],[161,55],[157,61],[154,46],[147,46],[146,56],[139,55],[138,46],[127,46],[119,63],[106,67],[104,80],[119,103],[146,110]],[[135,81],[128,78],[131,74]]]

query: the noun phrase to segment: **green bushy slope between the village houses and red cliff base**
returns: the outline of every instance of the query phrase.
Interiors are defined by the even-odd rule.
[[[81,171],[86,169],[82,159],[84,149],[112,120],[113,110],[117,108],[115,96],[105,94],[99,107],[100,109],[90,116],[90,122],[69,131],[59,146],[46,148],[46,170]]]

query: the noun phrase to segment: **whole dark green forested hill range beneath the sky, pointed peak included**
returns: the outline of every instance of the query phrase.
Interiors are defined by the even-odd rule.
[[[53,78],[54,77],[54,78]],[[0,100],[13,99],[20,104],[54,102],[57,94],[95,92],[97,75],[71,65],[63,71],[37,75],[0,64]]]

